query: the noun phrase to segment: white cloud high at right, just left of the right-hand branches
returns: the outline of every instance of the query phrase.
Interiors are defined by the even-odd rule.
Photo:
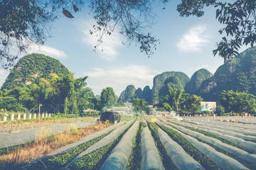
[[[210,36],[206,33],[206,25],[194,26],[182,36],[178,42],[178,50],[183,52],[198,52],[209,42]]]

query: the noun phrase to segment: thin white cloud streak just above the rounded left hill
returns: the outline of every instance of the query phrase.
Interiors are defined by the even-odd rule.
[[[36,45],[32,44],[28,47],[28,53],[42,53],[44,55],[49,55],[50,57],[57,57],[57,58],[65,58],[67,55],[65,52],[57,50],[53,47],[48,47],[46,45]]]

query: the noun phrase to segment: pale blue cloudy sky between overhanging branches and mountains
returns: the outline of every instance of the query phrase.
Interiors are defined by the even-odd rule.
[[[158,2],[153,5],[156,17],[147,31],[159,39],[160,44],[150,57],[133,43],[123,45],[125,39],[118,33],[105,36],[101,47],[93,51],[97,41],[89,30],[95,21],[88,14],[88,8],[72,12],[75,16],[72,19],[60,13],[60,19],[53,23],[50,31],[52,37],[41,47],[31,45],[28,54],[37,52],[53,57],[76,78],[88,76],[87,86],[95,95],[107,86],[112,87],[117,96],[130,84],[136,89],[152,88],[153,78],[162,72],[183,72],[191,78],[194,72],[204,68],[214,74],[223,64],[223,58],[213,57],[212,53],[216,42],[221,40],[218,30],[222,28],[215,19],[215,8],[205,8],[201,18],[186,18],[179,16],[176,6],[176,1],[165,6]],[[240,52],[245,49],[242,47]],[[0,86],[8,74],[9,71],[0,69]]]

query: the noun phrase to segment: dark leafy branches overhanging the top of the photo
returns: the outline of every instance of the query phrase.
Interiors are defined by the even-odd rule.
[[[159,0],[164,6],[169,0]],[[96,25],[90,34],[97,35],[99,44],[102,35],[111,35],[114,30],[127,38],[128,42],[139,44],[139,50],[151,55],[157,40],[146,28],[154,23],[153,0],[2,0],[0,1],[0,62],[4,68],[13,66],[17,55],[12,51],[26,52],[30,43],[43,44],[50,37],[52,22],[60,12],[68,18],[72,13],[89,6]],[[181,16],[203,16],[207,6],[216,8],[216,19],[223,24],[219,33],[223,35],[213,55],[220,55],[226,62],[238,55],[241,45],[253,46],[256,41],[256,1],[235,0],[181,0],[177,10]],[[98,44],[97,44],[98,45]],[[95,47],[97,47],[95,45]]]

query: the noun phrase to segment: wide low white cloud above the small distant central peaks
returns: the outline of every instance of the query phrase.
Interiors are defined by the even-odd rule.
[[[159,72],[144,65],[120,65],[109,69],[92,68],[92,71],[85,72],[83,75],[89,77],[87,85],[95,91],[95,94],[100,94],[102,89],[111,86],[119,96],[130,84],[142,90],[144,86],[151,86],[156,74]]]

